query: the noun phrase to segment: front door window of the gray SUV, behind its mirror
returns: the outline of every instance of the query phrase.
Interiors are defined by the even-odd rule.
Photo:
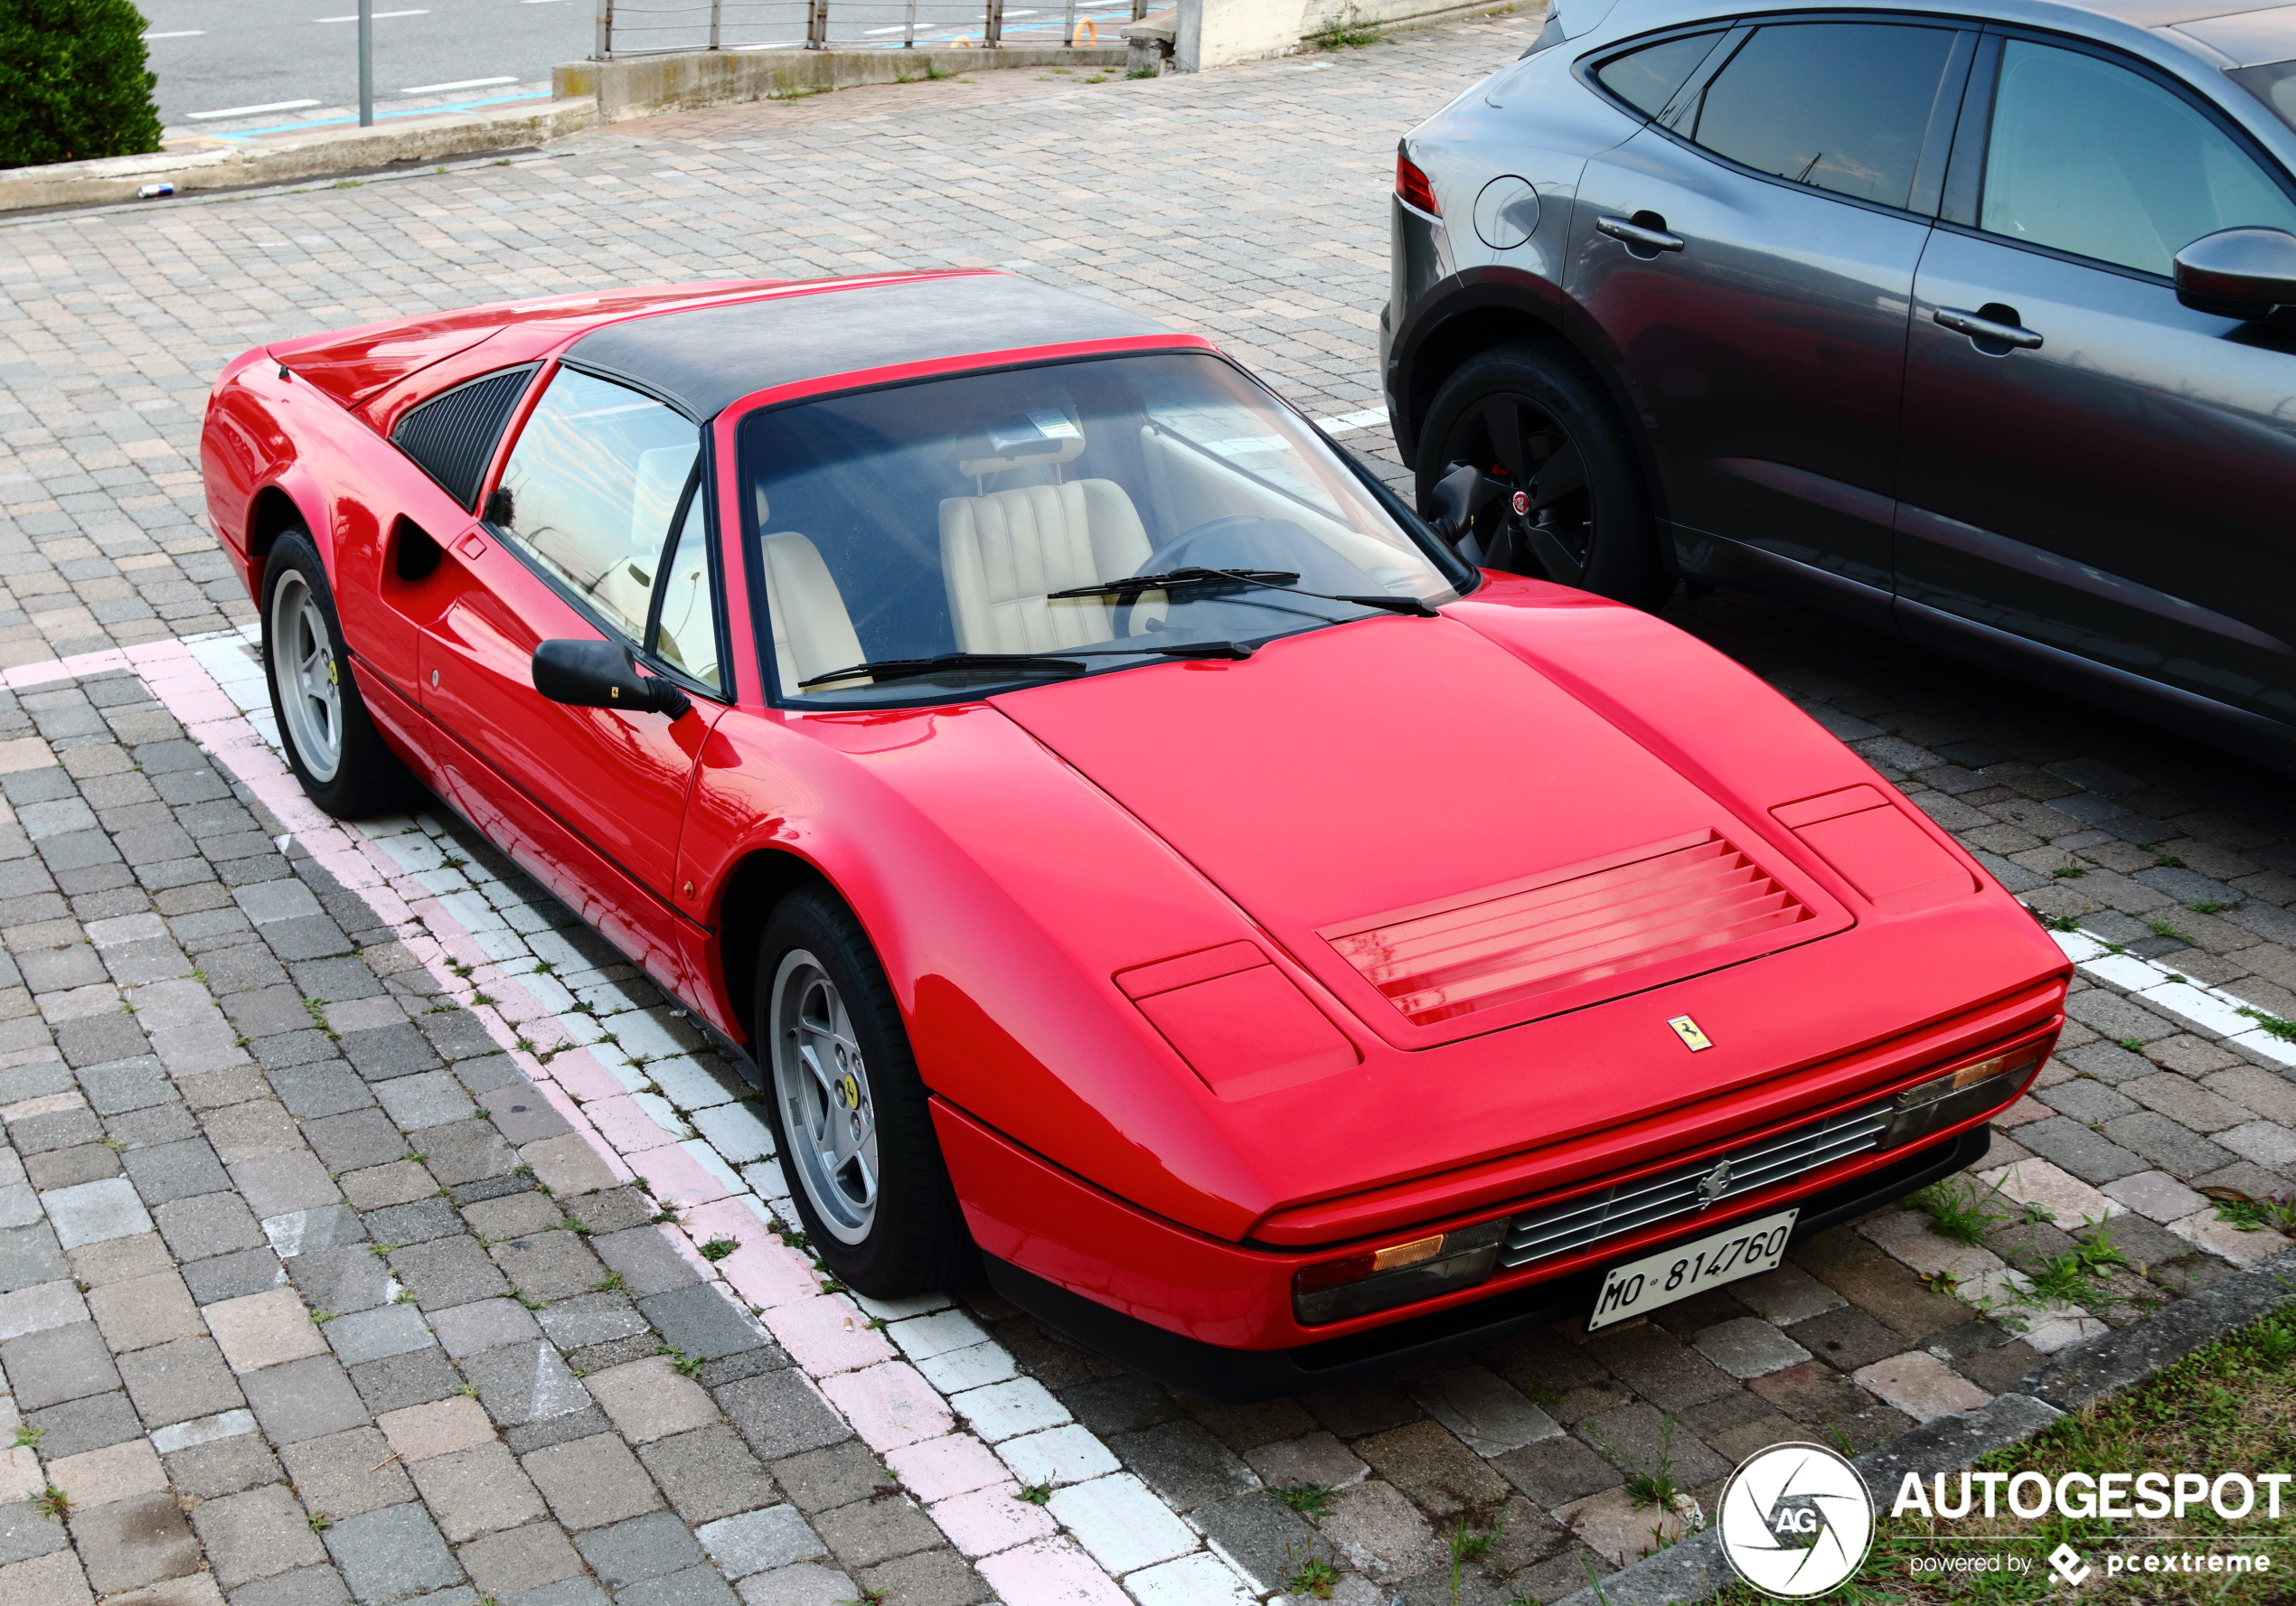
[[[2002,46],[1977,227],[2167,275],[2243,225],[2296,229],[2296,204],[2213,122],[2126,67]]]

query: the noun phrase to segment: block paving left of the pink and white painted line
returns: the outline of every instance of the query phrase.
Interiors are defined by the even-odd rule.
[[[0,1599],[983,1597],[140,679],[0,723]],[[537,941],[602,1014],[657,1003]]]

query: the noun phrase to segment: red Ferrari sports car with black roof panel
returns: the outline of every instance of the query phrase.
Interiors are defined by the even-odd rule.
[[[2057,1037],[2032,915],[1777,693],[1095,301],[289,340],[202,461],[310,796],[411,771],[707,1019],[866,1294],[985,1262],[1235,1400],[1607,1326],[1972,1163]]]

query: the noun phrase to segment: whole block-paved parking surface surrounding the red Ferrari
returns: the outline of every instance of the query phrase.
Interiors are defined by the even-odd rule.
[[[1495,1539],[1458,1599],[1552,1601],[1690,1517],[1635,1473],[1711,1510],[1750,1450],[1979,1406],[2287,1246],[2200,1193],[2296,1188],[2282,787],[1761,599],[1669,617],[2082,964],[1970,1184],[1979,1244],[1880,1211],[1621,1331],[1258,1406],[985,1289],[824,1287],[675,1005],[459,821],[344,831],[294,794],[200,523],[225,356],[585,284],[987,262],[1215,335],[1396,473],[1362,420],[1391,140],[1522,28],[0,227],[0,1599],[1196,1606],[1325,1558],[1334,1599],[1419,1606],[1465,1533]],[[2128,1264],[2053,1276],[2099,1232]]]

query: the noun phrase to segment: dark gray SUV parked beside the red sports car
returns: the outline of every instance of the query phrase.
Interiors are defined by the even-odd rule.
[[[1398,154],[1421,507],[2296,769],[2296,7],[2236,2],[1559,0]]]

